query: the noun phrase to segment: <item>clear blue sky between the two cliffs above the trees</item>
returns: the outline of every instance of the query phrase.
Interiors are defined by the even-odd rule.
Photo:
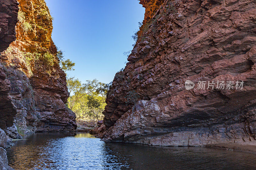
[[[145,9],[138,0],[45,0],[53,20],[52,39],[65,58],[76,63],[68,72],[80,81],[109,83],[126,64],[131,36]]]

